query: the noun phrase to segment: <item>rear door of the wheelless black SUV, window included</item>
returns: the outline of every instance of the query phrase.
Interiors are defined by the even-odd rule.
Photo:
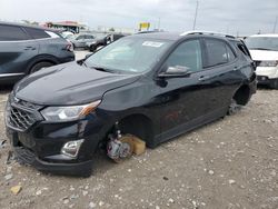
[[[206,59],[201,82],[210,93],[207,97],[207,111],[225,111],[241,81],[240,61],[228,41],[215,38],[203,40]]]

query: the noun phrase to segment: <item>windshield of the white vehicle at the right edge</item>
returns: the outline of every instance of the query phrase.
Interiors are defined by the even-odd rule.
[[[278,37],[249,37],[245,42],[249,49],[278,51]]]

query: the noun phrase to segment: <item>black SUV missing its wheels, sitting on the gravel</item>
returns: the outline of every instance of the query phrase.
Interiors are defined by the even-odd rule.
[[[236,112],[256,84],[248,49],[232,37],[135,34],[22,79],[7,103],[7,133],[20,161],[86,176],[99,148],[125,158],[127,135],[155,148]]]

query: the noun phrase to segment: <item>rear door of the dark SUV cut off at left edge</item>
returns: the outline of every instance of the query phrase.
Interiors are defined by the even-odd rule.
[[[17,26],[0,24],[0,77],[22,77],[38,43]]]

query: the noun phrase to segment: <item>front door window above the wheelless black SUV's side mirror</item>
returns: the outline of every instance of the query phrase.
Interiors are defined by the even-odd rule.
[[[201,47],[198,40],[186,41],[177,47],[166,61],[167,67],[186,67],[190,71],[202,69]]]

